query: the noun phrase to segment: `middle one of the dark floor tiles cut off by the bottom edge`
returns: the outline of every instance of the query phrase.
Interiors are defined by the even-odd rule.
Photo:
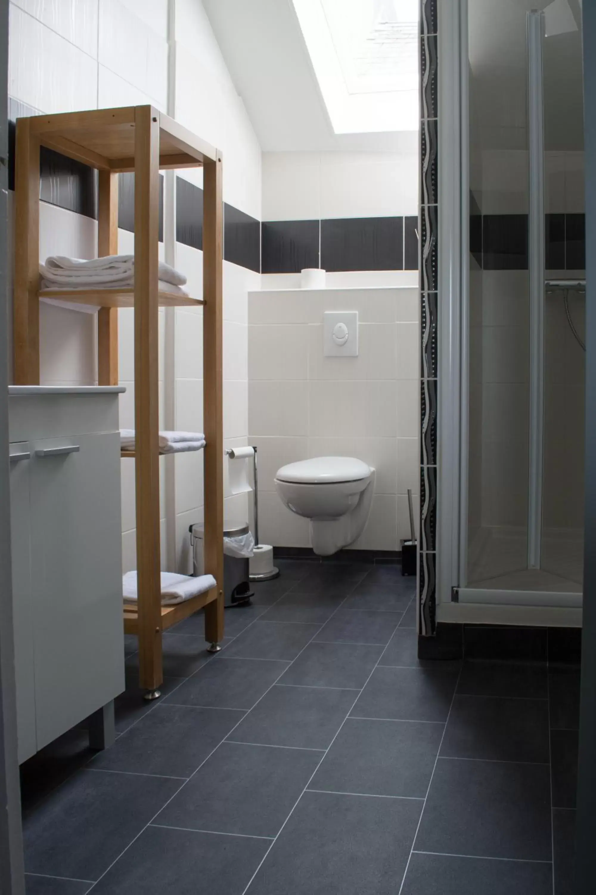
[[[306,792],[248,895],[395,895],[421,806]]]

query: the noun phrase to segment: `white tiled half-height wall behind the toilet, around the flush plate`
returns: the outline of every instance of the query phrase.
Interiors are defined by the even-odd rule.
[[[358,311],[359,355],[323,357],[323,311]],[[398,550],[409,536],[407,489],[420,493],[419,295],[416,289],[284,290],[248,297],[248,430],[258,447],[259,533],[308,547],[306,519],[273,479],[311,456],[357,456],[376,468],[360,550]]]

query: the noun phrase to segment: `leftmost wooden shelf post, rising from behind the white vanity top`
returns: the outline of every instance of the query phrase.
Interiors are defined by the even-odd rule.
[[[14,172],[14,384],[39,382],[39,140],[30,118],[16,128]]]

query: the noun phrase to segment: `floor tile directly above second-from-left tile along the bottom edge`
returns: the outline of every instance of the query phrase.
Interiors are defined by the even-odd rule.
[[[222,743],[155,823],[276,836],[322,752]]]

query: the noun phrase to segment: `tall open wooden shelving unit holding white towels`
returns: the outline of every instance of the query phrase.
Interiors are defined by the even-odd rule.
[[[39,148],[97,168],[98,256],[118,253],[118,180],[135,175],[135,285],[132,289],[39,289]],[[159,170],[203,167],[203,296],[158,288]],[[124,606],[124,630],[139,635],[139,683],[149,697],[163,681],[162,631],[205,608],[213,651],[223,637],[222,155],[151,106],[20,118],[15,169],[14,382],[39,382],[39,299],[99,307],[98,382],[118,384],[118,308],[135,310],[135,458],[139,601]],[[217,586],[162,606],[159,530],[158,308],[204,305],[205,570]]]

